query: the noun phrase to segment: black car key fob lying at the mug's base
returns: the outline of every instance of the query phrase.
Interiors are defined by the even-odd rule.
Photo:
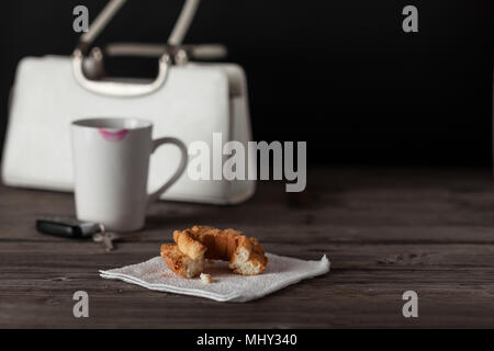
[[[98,223],[79,222],[71,217],[43,217],[36,219],[36,230],[42,234],[66,237],[87,238],[101,231]]]

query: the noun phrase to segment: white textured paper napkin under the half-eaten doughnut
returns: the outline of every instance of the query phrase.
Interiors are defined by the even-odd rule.
[[[266,296],[301,280],[327,273],[330,265],[326,256],[321,261],[304,261],[272,253],[266,256],[269,260],[267,269],[254,276],[233,274],[227,262],[206,261],[204,272],[213,276],[211,284],[202,283],[199,278],[178,276],[159,256],[146,262],[100,271],[100,275],[160,292],[243,303]]]

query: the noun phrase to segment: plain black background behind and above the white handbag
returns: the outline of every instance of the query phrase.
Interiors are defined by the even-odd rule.
[[[492,0],[203,0],[187,43],[247,71],[257,140],[307,140],[312,163],[491,165]],[[19,59],[71,53],[72,9],[1,2],[0,141]],[[130,0],[99,43],[165,42],[181,0]],[[402,31],[402,9],[419,32]]]

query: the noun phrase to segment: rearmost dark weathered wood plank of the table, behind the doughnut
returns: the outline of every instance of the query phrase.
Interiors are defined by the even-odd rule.
[[[462,177],[453,171],[438,171],[442,177],[430,172],[431,180],[414,173],[384,178],[379,172],[363,172],[359,178],[341,172],[345,177],[322,171],[327,179],[321,185],[316,173],[310,190],[318,194],[318,200],[310,208],[291,207],[282,184],[266,183],[251,201],[239,206],[155,204],[145,234],[169,234],[178,227],[211,223],[238,227],[266,239],[494,242],[494,179],[487,170],[473,174],[463,171]],[[380,181],[374,177],[381,177]],[[470,177],[470,186],[464,184],[464,177]],[[0,191],[0,239],[43,240],[34,235],[37,216],[74,214],[69,194],[8,188]]]

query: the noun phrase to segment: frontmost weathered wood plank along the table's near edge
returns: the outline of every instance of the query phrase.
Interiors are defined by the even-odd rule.
[[[314,281],[317,281],[314,280]],[[383,284],[291,286],[249,304],[221,304],[198,297],[151,294],[120,283],[121,290],[96,294],[90,290],[90,318],[71,316],[67,295],[2,297],[0,326],[19,327],[492,327],[492,294],[483,288],[415,285],[419,291],[419,318],[402,316],[402,288]],[[106,283],[109,284],[109,283]],[[491,286],[492,291],[492,286]],[[337,297],[336,297],[337,296]],[[327,303],[322,305],[321,301]],[[324,308],[324,309],[323,309]]]

